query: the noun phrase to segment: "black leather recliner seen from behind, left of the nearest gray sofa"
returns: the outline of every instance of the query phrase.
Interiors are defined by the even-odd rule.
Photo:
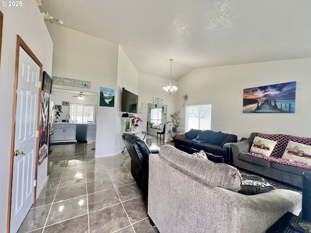
[[[138,187],[141,188],[142,193],[148,195],[149,154],[157,154],[159,150],[150,150],[148,145],[140,137],[133,134],[123,133],[122,139],[132,159],[132,176],[138,184]]]

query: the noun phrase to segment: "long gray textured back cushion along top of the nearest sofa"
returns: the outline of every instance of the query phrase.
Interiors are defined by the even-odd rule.
[[[172,166],[177,166],[215,187],[222,187],[234,192],[241,190],[242,177],[236,167],[197,159],[171,145],[161,146],[159,156],[172,163]]]

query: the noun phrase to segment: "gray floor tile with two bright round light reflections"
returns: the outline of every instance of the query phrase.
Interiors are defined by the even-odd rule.
[[[68,220],[69,218],[87,214],[86,196],[59,201],[52,204],[47,225]]]

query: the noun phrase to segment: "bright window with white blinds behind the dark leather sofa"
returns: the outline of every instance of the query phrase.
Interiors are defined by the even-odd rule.
[[[211,103],[186,106],[185,132],[191,129],[210,130],[211,114]]]

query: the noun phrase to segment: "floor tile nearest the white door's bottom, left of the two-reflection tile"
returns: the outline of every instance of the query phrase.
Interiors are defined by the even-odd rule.
[[[30,232],[44,227],[51,204],[30,209],[17,233]]]

